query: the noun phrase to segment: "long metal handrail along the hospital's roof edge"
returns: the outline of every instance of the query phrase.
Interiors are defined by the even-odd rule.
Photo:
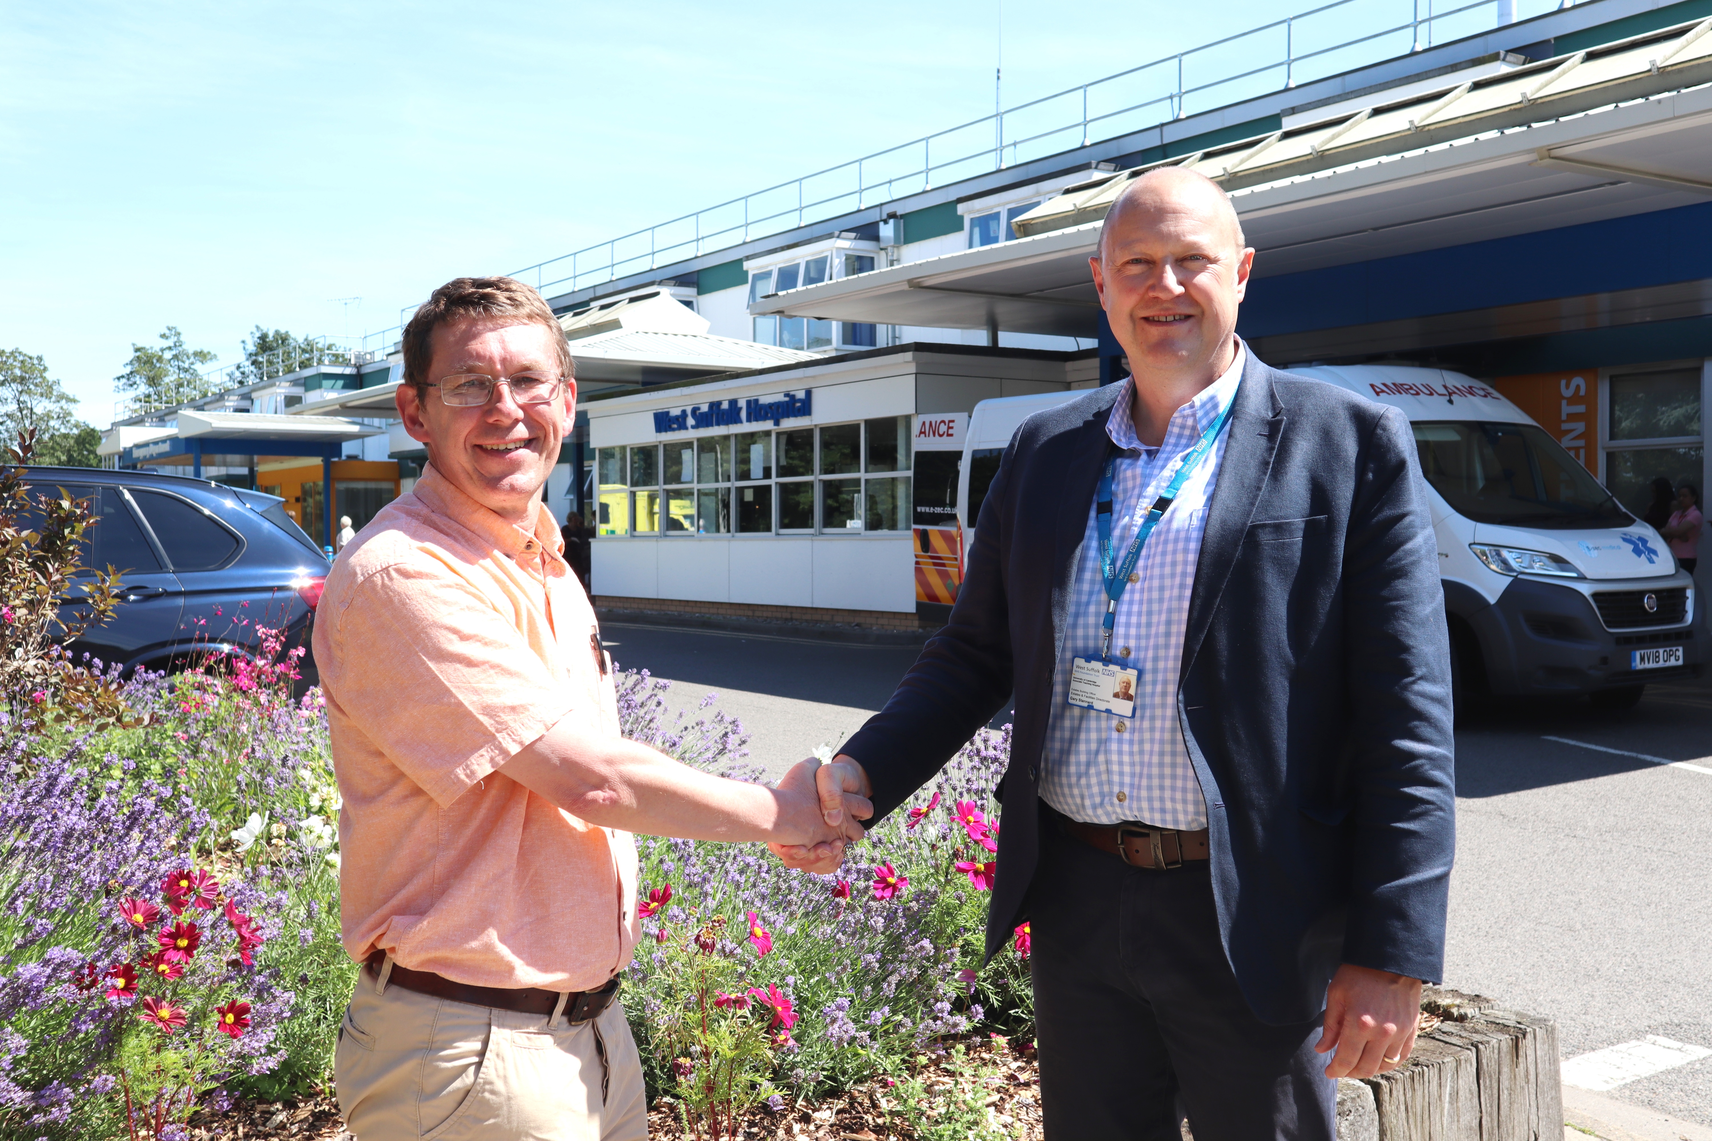
[[[1546,12],[1558,7],[1568,7],[1568,3],[1573,2],[1575,0],[1563,0],[1561,3],[1560,0],[1520,0],[1520,3],[1517,3],[1513,0],[1472,0],[1471,3],[1459,3],[1447,10],[1435,12],[1433,10],[1435,0],[1392,0],[1392,10],[1399,9],[1407,10],[1409,14],[1407,19],[1399,19],[1397,22],[1380,27],[1378,31],[1364,31],[1359,36],[1339,39],[1337,43],[1329,46],[1313,48],[1308,51],[1298,51],[1296,38],[1299,22],[1308,21],[1311,17],[1325,15],[1329,12],[1339,12],[1342,9],[1349,9],[1356,3],[1371,5],[1371,0],[1332,0],[1330,3],[1322,3],[1320,7],[1308,9],[1305,12],[1296,12],[1294,15],[1287,15],[1284,19],[1272,21],[1270,24],[1262,24],[1260,27],[1251,27],[1248,31],[1236,33],[1234,36],[1214,39],[1212,43],[1190,48],[1188,51],[1168,55],[1152,60],[1149,63],[1142,63],[1126,68],[1123,72],[1116,72],[1113,75],[1106,75],[1103,79],[1080,84],[1077,87],[1067,87],[1049,96],[1041,96],[1027,103],[1019,103],[1017,106],[1000,111],[998,115],[986,115],[976,120],[969,120],[967,123],[959,123],[957,127],[948,127],[931,135],[924,135],[921,139],[914,139],[911,142],[904,142],[895,147],[887,147],[885,151],[877,151],[873,154],[853,159],[849,163],[839,163],[837,166],[829,166],[825,169],[805,174],[801,178],[776,183],[772,186],[767,186],[765,190],[757,190],[753,193],[738,198],[729,198],[726,202],[721,202],[717,205],[702,210],[695,210],[692,214],[681,214],[675,219],[659,222],[656,226],[649,226],[645,229],[637,229],[628,234],[621,234],[618,238],[609,238],[592,246],[586,246],[582,250],[574,250],[572,253],[562,253],[560,257],[548,258],[544,262],[536,262],[534,265],[526,265],[524,269],[510,274],[510,277],[532,284],[543,294],[546,294],[548,289],[555,287],[563,287],[563,291],[568,293],[574,289],[582,289],[584,286],[616,281],[618,277],[640,274],[649,269],[657,269],[661,265],[669,265],[673,262],[700,257],[702,253],[709,253],[712,250],[722,250],[743,245],[745,241],[752,241],[755,238],[765,238],[769,234],[782,233],[786,229],[796,229],[806,224],[808,221],[832,216],[839,212],[839,209],[859,210],[877,202],[889,202],[911,193],[919,193],[923,190],[931,190],[936,180],[940,181],[940,185],[943,185],[947,176],[952,176],[952,180],[967,178],[974,173],[1003,169],[1020,161],[1041,157],[1044,154],[1051,154],[1051,151],[1043,151],[1041,154],[1032,154],[1032,152],[1024,154],[1022,149],[1027,147],[1029,144],[1036,144],[1053,135],[1061,135],[1075,128],[1080,128],[1079,145],[1085,147],[1092,142],[1089,133],[1091,127],[1097,123],[1108,123],[1111,120],[1126,115],[1137,115],[1157,104],[1166,104],[1162,108],[1164,109],[1162,118],[1152,123],[1140,123],[1126,130],[1140,130],[1144,127],[1154,127],[1164,121],[1180,120],[1190,115],[1190,103],[1195,99],[1195,96],[1204,96],[1205,92],[1210,92],[1217,87],[1228,87],[1229,84],[1251,80],[1255,77],[1267,75],[1281,68],[1284,72],[1282,89],[1296,87],[1301,82],[1323,79],[1323,75],[1313,72],[1305,75],[1303,65],[1308,65],[1313,60],[1322,60],[1332,53],[1349,51],[1354,48],[1373,44],[1375,41],[1382,41],[1385,38],[1400,36],[1402,33],[1411,33],[1412,36],[1407,48],[1409,51],[1423,51],[1433,44],[1435,27],[1440,26],[1443,21],[1464,17],[1462,21],[1459,21],[1459,27],[1453,31],[1453,38],[1471,34],[1472,31],[1469,27],[1471,21],[1467,21],[1465,17],[1483,9],[1491,10],[1493,26],[1496,26],[1496,19],[1507,9],[1513,12],[1515,9],[1520,7],[1529,7],[1529,9],[1537,7],[1541,12]],[[1582,2],[1585,3],[1587,0]],[[1525,19],[1525,17],[1517,12],[1515,19]],[[1238,70],[1233,74],[1221,74],[1219,77],[1205,82],[1197,82],[1197,84],[1186,82],[1186,63],[1192,62],[1195,56],[1243,39],[1265,36],[1267,33],[1277,33],[1279,29],[1282,29],[1284,33],[1282,56],[1272,58],[1272,62],[1262,63],[1258,67],[1248,67],[1245,70]],[[1395,51],[1383,51],[1383,53],[1375,53],[1373,58],[1364,58],[1364,55],[1363,58],[1344,58],[1340,60],[1337,68],[1349,70],[1351,67],[1376,63],[1385,58],[1394,58],[1395,55],[1397,55]],[[1128,80],[1142,75],[1144,72],[1162,67],[1174,68],[1174,82],[1169,87],[1169,91],[1144,99],[1142,103],[1123,106],[1121,109],[1116,111],[1099,111],[1096,115],[1089,115],[1089,92],[1099,92],[1106,89],[1109,84]],[[1079,116],[1063,120],[1055,127],[1048,127],[1044,130],[1037,130],[1029,135],[1007,137],[1005,133],[1007,118],[1014,118],[1017,115],[1031,111],[1034,108],[1046,106],[1056,99],[1065,99],[1068,96],[1080,98]],[[1209,103],[1207,108],[1195,108],[1195,109],[1210,109],[1212,106],[1216,104]],[[955,157],[950,159],[942,157],[935,161],[933,156],[935,142],[940,142],[943,147],[943,142],[950,140],[954,135],[959,135],[962,132],[974,132],[976,128],[988,128],[984,132],[986,142],[979,149],[969,152],[959,152]],[[885,159],[914,154],[916,149],[919,149],[921,152],[919,164],[912,164],[914,159],[911,157],[906,163],[907,169],[894,171],[885,176],[877,176],[871,181],[868,180],[868,171],[873,169],[875,166],[882,166]],[[1073,145],[1063,149],[1068,151],[1073,149]],[[969,168],[971,164],[979,164],[981,169],[979,171],[959,169],[959,168]],[[811,200],[806,197],[805,193],[806,185],[820,178],[829,178],[844,173],[854,173],[854,180],[853,183],[847,183],[846,190]],[[758,216],[753,214],[755,209],[767,209],[767,205],[764,204],[767,195],[782,195],[789,198],[793,190],[796,198],[793,205],[774,209],[770,212]],[[846,205],[844,207],[832,205],[841,202]],[[810,210],[822,210],[822,209],[825,209],[823,214],[810,216]],[[741,214],[741,221],[731,221],[729,224],[722,224],[716,217],[722,210],[733,216]],[[714,228],[704,229],[704,224]],[[669,233],[673,228],[683,228],[688,231],[688,234],[678,238]],[[632,253],[630,250],[635,251]],[[565,262],[570,263],[568,272],[567,267],[563,265]],[[550,269],[550,267],[558,267],[558,269]],[[363,346],[368,347],[370,342],[378,342],[378,351],[383,352],[390,349],[397,340],[397,334],[404,328],[402,318],[404,313],[409,311],[409,308],[414,306],[407,306],[404,311],[401,311],[399,325],[394,325],[392,328],[382,330],[378,334],[368,334],[366,337],[363,337]]]

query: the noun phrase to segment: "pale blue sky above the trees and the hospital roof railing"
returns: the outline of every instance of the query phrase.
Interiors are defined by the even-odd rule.
[[[1003,0],[1005,103],[1279,12]],[[132,342],[164,325],[221,363],[257,323],[380,330],[447,277],[984,115],[998,14],[998,0],[5,5],[0,349],[43,354],[104,428]]]

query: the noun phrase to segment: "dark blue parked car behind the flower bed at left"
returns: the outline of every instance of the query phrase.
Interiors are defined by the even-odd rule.
[[[327,582],[327,558],[286,513],[284,500],[207,479],[87,467],[31,467],[33,493],[89,500],[84,563],[122,571],[123,604],[70,643],[128,674],[181,669],[217,655],[253,655],[257,626],[303,647]],[[77,606],[77,602],[67,602]]]

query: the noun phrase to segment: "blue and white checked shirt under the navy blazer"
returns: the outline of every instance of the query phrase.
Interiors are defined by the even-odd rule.
[[[1130,417],[1133,378],[1111,407],[1106,435],[1121,448],[1113,470],[1113,535],[1118,561],[1130,549],[1135,529],[1178,464],[1236,397],[1246,347],[1219,380],[1180,407],[1157,448],[1142,445]],[[1111,635],[1111,660],[1140,671],[1135,717],[1115,717],[1067,703],[1070,669],[1077,657],[1099,659],[1106,587],[1099,571],[1099,530],[1094,505],[1087,508],[1087,537],[1070,590],[1070,618],[1063,655],[1053,676],[1053,712],[1046,725],[1041,795],[1072,819],[1091,825],[1144,821],[1159,828],[1193,831],[1207,826],[1207,801],[1183,744],[1176,689],[1183,662],[1183,630],[1195,587],[1195,559],[1207,527],[1207,503],[1219,481],[1226,424],[1212,450],[1183,484],[1171,510],[1161,517],[1135,563],[1135,576],[1118,602]]]

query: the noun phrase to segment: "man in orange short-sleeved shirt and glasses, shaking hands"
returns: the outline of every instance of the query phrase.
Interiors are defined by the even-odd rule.
[[[541,503],[572,366],[527,286],[437,289],[397,392],[428,465],[327,575],[315,662],[344,946],[365,965],[336,1074],[360,1141],[645,1138],[613,999],[639,932],[632,833],[841,850],[811,765],[765,789],[620,736],[611,659]]]

